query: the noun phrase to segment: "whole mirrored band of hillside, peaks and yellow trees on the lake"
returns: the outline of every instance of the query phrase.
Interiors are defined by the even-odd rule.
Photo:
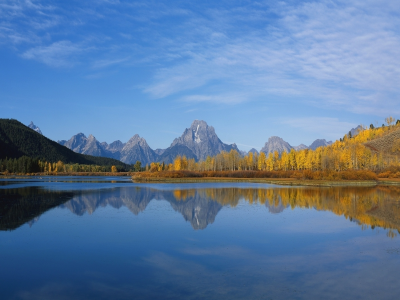
[[[76,215],[92,214],[99,207],[127,207],[134,215],[150,201],[165,200],[182,214],[194,229],[212,224],[224,206],[240,201],[265,205],[270,213],[306,208],[343,215],[362,228],[400,232],[400,188],[398,187],[288,187],[288,188],[197,188],[162,190],[150,187],[117,187],[87,191],[53,191],[39,187],[0,190],[0,230],[32,225],[44,212],[67,208]]]

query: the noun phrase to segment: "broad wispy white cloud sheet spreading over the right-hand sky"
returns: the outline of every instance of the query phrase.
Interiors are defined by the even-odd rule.
[[[375,1],[281,3],[256,14],[274,12],[272,24],[235,37],[221,34],[224,41],[216,43],[212,36],[235,18],[227,11],[215,25],[205,21],[209,37],[202,45],[183,43],[179,52],[187,59],[159,69],[144,91],[157,98],[184,92],[185,101],[237,103],[237,97],[227,100],[229,88],[225,96],[207,93],[222,81],[241,101],[273,95],[358,113],[400,111],[400,22],[393,9],[400,12],[398,5],[382,8]],[[206,92],[199,94],[200,88]]]

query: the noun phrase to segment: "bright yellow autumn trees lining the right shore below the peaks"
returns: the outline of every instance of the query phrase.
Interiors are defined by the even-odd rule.
[[[397,167],[399,164],[399,152],[394,142],[390,153],[373,151],[365,146],[368,141],[383,137],[386,134],[400,130],[400,122],[388,126],[374,128],[363,128],[354,137],[351,133],[340,140],[326,147],[319,147],[316,150],[304,149],[296,151],[292,149],[289,153],[278,151],[266,155],[261,152],[249,153],[241,156],[236,150],[221,152],[216,156],[207,157],[206,160],[196,162],[194,159],[187,159],[185,156],[177,156],[172,164],[151,163],[146,166],[150,172],[161,171],[353,171],[369,170],[382,171],[388,167]]]

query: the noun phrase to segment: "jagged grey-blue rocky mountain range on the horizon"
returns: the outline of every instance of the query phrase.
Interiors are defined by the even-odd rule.
[[[33,125],[33,123],[31,123]],[[35,126],[35,125],[34,125]],[[37,126],[36,126],[37,127]],[[37,127],[38,128],[38,127]],[[39,129],[40,130],[40,129]],[[103,156],[120,160],[126,164],[134,164],[140,161],[142,165],[151,162],[172,163],[176,156],[186,156],[188,159],[196,161],[204,160],[207,156],[215,156],[221,151],[237,150],[241,155],[248,153],[264,152],[265,154],[278,151],[290,152],[291,149],[317,149],[318,147],[330,145],[331,141],[317,139],[311,145],[300,144],[291,146],[278,136],[272,136],[265,143],[260,151],[251,149],[249,152],[240,151],[236,144],[225,144],[217,136],[215,129],[209,126],[205,121],[195,120],[189,128],[186,128],[183,134],[174,139],[171,145],[166,149],[153,150],[143,137],[135,134],[128,142],[123,143],[119,140],[108,144],[99,142],[93,135],[86,137],[83,133],[78,133],[69,140],[58,141],[59,144],[73,150],[74,152]]]

